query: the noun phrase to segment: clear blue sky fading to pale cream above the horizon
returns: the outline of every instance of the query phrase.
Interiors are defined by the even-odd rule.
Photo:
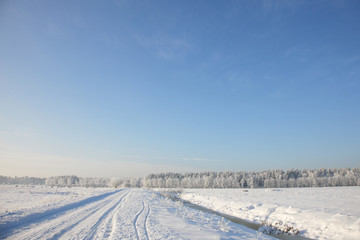
[[[359,1],[0,1],[0,175],[360,166]]]

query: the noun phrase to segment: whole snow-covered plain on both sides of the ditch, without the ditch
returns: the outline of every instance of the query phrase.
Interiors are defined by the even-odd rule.
[[[185,189],[181,198],[313,239],[360,239],[360,187]],[[0,186],[0,239],[273,239],[144,189]]]

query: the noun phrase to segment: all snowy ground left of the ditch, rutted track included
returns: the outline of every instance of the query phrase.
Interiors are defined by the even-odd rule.
[[[273,239],[143,189],[0,191],[1,239]]]

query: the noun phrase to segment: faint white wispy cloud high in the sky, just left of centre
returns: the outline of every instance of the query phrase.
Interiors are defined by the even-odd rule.
[[[145,48],[153,49],[155,54],[165,60],[178,59],[187,56],[193,49],[184,37],[168,36],[135,36],[136,41]]]

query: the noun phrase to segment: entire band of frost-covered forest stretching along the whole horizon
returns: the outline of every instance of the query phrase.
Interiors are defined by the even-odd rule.
[[[360,168],[260,172],[158,173],[145,178],[49,178],[0,176],[0,184],[145,188],[295,188],[360,186]]]

